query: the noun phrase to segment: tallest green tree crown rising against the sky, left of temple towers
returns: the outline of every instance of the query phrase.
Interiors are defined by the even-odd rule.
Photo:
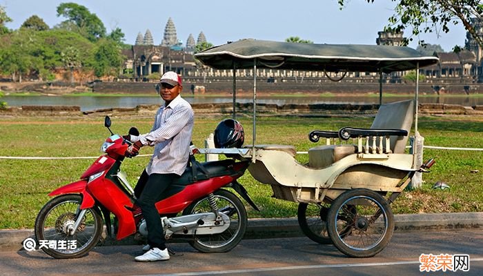
[[[101,19],[84,6],[77,3],[61,3],[57,7],[57,17],[61,16],[67,18],[61,26],[66,26],[70,30],[77,28],[77,31],[90,41],[106,37],[106,28]]]

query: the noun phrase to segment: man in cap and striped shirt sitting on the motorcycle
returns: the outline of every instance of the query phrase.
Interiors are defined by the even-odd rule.
[[[151,132],[128,137],[134,142],[128,148],[131,155],[137,155],[142,146],[155,146],[151,160],[135,187],[136,204],[141,208],[148,228],[148,246],[143,248],[148,251],[135,257],[137,262],[170,258],[155,203],[161,200],[161,193],[184,172],[188,164],[194,112],[190,103],[179,95],[182,88],[181,77],[175,72],[166,72],[157,86],[164,105],[157,111]]]

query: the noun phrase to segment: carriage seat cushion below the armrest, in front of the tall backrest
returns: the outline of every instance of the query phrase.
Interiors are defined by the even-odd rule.
[[[316,146],[308,150],[308,166],[325,168],[347,155],[352,155],[356,150],[354,145]]]

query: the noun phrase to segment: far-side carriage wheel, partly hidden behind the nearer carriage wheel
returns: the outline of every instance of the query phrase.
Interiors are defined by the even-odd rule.
[[[328,204],[299,203],[297,220],[302,232],[319,244],[332,244],[327,231]]]

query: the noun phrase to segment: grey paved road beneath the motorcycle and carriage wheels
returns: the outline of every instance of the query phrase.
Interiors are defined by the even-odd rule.
[[[197,253],[188,244],[168,262],[137,263],[141,246],[97,247],[80,259],[52,259],[42,251],[3,251],[1,275],[482,275],[483,231],[396,233],[372,258],[353,259],[305,237],[244,239],[229,253]],[[420,272],[421,254],[467,254],[470,270]],[[332,273],[332,274],[331,274]]]

